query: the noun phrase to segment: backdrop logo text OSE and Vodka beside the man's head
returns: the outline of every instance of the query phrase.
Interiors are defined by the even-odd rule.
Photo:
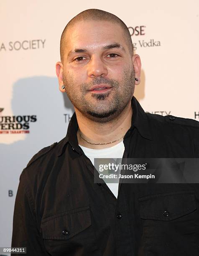
[[[137,42],[134,40],[135,36],[145,36],[146,26],[130,26],[128,27],[130,35],[133,37],[133,50],[137,50],[138,47],[146,48],[146,47],[155,47],[161,46],[161,42],[154,39],[142,39],[138,40]]]

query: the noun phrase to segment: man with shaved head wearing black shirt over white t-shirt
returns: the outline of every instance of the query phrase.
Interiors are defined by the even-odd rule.
[[[66,138],[20,176],[12,246],[27,255],[199,254],[197,184],[94,183],[94,158],[197,158],[199,124],[145,113],[140,57],[111,13],[89,9],[61,36],[56,74],[75,113]]]

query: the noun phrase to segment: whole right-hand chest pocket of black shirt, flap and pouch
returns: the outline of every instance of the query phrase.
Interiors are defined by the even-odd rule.
[[[140,255],[189,255],[189,247],[197,247],[193,190],[140,197],[139,206],[143,223]]]

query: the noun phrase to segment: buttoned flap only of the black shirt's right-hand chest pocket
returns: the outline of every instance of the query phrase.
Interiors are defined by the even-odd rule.
[[[193,190],[161,193],[139,198],[140,218],[174,220],[196,210]]]

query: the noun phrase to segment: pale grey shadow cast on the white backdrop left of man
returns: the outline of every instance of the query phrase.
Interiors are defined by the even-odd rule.
[[[0,169],[3,170],[2,175],[7,178],[11,178],[13,173],[20,174],[31,157],[41,148],[64,138],[68,128],[64,114],[72,115],[74,112],[66,93],[63,98],[63,93],[59,91],[55,77],[19,79],[13,84],[11,103],[13,115],[36,115],[37,121],[29,123],[30,133],[26,134],[25,140],[12,144],[0,143]]]

